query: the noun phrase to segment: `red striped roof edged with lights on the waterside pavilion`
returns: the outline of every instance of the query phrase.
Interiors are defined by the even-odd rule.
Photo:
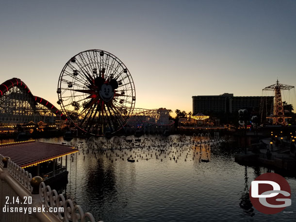
[[[20,167],[28,167],[51,159],[78,152],[73,146],[62,144],[22,142],[0,145],[0,154],[10,157]]]

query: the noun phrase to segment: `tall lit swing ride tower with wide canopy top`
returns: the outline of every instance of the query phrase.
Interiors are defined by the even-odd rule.
[[[275,101],[274,101],[274,106],[273,106],[273,115],[266,117],[267,119],[272,119],[272,124],[273,125],[285,125],[285,119],[291,118],[285,116],[284,113],[284,108],[282,105],[281,101],[281,90],[290,90],[293,89],[294,86],[290,85],[285,85],[285,84],[280,84],[279,80],[277,80],[276,84],[270,85],[265,87],[263,90],[269,90],[269,91],[274,91],[275,92]]]

